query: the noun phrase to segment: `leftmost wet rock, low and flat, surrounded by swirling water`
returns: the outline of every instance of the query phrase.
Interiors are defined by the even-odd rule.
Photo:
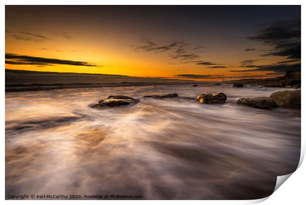
[[[138,103],[140,100],[125,95],[111,95],[98,101],[98,104],[93,105],[93,108],[98,107],[115,107],[120,105],[129,105]]]

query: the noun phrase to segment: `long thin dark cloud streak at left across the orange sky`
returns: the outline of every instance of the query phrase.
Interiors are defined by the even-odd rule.
[[[76,66],[97,66],[92,63],[73,61],[73,60],[61,60],[61,59],[47,59],[32,56],[21,56],[16,54],[5,54],[5,63],[7,64],[32,64],[32,65],[52,65],[52,64],[64,64],[64,65],[76,65]]]

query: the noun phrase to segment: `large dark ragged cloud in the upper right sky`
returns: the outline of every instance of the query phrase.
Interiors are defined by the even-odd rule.
[[[261,25],[248,40],[263,42],[272,49],[262,56],[281,56],[301,59],[301,18]]]

